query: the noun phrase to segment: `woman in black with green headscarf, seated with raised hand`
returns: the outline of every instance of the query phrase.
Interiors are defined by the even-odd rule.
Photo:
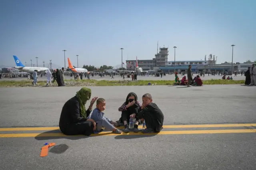
[[[89,136],[96,129],[96,123],[92,119],[87,119],[92,111],[92,106],[98,97],[94,97],[88,110],[85,110],[87,100],[90,100],[91,89],[83,87],[76,96],[70,98],[63,106],[60,114],[60,131],[65,135],[83,134]]]

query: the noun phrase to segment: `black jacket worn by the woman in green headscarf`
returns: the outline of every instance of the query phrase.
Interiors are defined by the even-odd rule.
[[[86,111],[86,117],[90,115],[90,112],[91,110],[89,109]],[[87,118],[82,118],[78,98],[74,96],[70,98],[62,108],[59,122],[60,130],[64,130],[67,124],[75,124],[78,122],[84,122],[86,120]]]

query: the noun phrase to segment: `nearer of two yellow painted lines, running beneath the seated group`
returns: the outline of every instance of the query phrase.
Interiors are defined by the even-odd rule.
[[[256,133],[254,129],[232,129],[232,130],[174,130],[174,131],[161,131],[159,133],[143,134],[141,132],[114,134],[112,132],[100,132],[99,134],[92,134],[91,136],[118,136],[118,135],[172,135],[172,134],[224,134],[224,133]],[[68,137],[62,133],[28,133],[28,134],[0,134],[0,138],[25,138],[25,137]],[[76,135],[84,136],[84,135]],[[74,136],[69,136],[74,137]]]

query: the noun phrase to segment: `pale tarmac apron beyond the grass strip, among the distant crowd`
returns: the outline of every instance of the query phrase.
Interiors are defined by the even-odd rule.
[[[180,79],[183,77],[180,74],[178,76],[179,76]],[[187,75],[185,75],[185,76],[187,76]],[[194,74],[193,76],[196,76],[196,74]],[[233,77],[234,80],[245,80],[245,76],[241,76],[241,74],[236,76],[236,77],[233,75],[232,77]],[[90,78],[94,79],[94,80],[123,80],[123,78],[121,76],[118,76],[118,75],[114,76],[114,79],[111,79],[110,76],[105,76],[105,77],[94,76],[94,77],[90,77]],[[138,80],[174,80],[175,76],[174,76],[174,74],[172,74],[172,75],[166,74],[166,76],[163,76],[162,78],[154,77],[154,76],[151,76],[151,75],[150,76],[138,76],[137,78],[138,78]],[[202,80],[221,79],[221,78],[222,78],[222,76],[217,76],[217,75],[216,76],[208,76],[208,74],[205,74],[204,77],[201,77]],[[2,79],[0,79],[0,81],[1,80],[21,81],[21,80],[27,80],[27,79],[28,78],[2,78]],[[65,79],[66,80],[70,80],[70,79],[73,80],[74,77],[65,76]],[[83,79],[86,80],[87,78],[83,77]],[[39,77],[38,80],[39,81],[40,80],[46,81],[46,77],[45,76],[43,76],[42,78]],[[126,76],[125,76],[125,80],[132,80],[132,78],[126,78]]]

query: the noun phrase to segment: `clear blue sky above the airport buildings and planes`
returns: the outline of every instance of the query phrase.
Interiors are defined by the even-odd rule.
[[[170,47],[168,61],[256,60],[255,0],[1,0],[0,65],[64,66],[64,52],[76,66],[115,66],[126,59],[152,59]],[[67,66],[66,61],[66,66]]]

